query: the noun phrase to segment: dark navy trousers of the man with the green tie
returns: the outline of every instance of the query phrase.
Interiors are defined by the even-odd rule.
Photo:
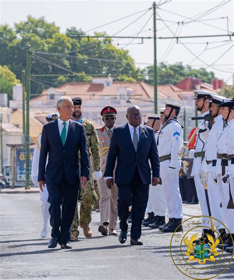
[[[49,193],[51,237],[58,238],[60,243],[67,243],[70,240],[70,227],[77,205],[78,185],[68,183],[65,175],[63,175],[60,183],[47,183],[46,187]]]

